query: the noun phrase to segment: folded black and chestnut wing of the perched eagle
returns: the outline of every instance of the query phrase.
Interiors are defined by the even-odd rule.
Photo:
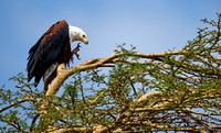
[[[60,58],[66,45],[70,45],[69,24],[63,20],[52,25],[30,48],[27,65],[29,80],[35,77],[35,82],[39,84],[46,69]]]

